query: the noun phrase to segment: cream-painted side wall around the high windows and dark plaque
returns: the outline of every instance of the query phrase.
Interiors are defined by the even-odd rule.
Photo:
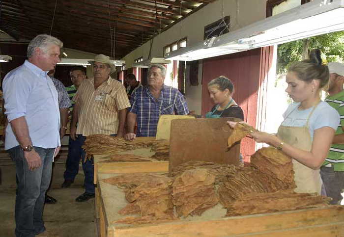
[[[238,14],[237,9],[239,9]],[[264,19],[265,14],[266,0],[217,0],[156,36],[153,41],[151,56],[162,57],[166,45],[184,37],[187,37],[188,46],[203,41],[204,26],[220,20],[222,16],[230,15],[230,30],[232,31]],[[132,67],[134,60],[141,56],[143,59],[147,59],[149,47],[150,43],[147,42],[127,54],[122,59],[125,60],[126,67]],[[195,110],[198,114],[201,113],[202,63],[200,63],[199,70],[199,85],[190,86],[190,82],[187,80],[185,87],[189,109]]]

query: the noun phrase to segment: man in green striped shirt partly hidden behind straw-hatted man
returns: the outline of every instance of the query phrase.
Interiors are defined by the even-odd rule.
[[[86,79],[86,70],[84,67],[73,67],[70,71],[70,75],[73,85],[66,87],[66,90],[72,103],[72,106],[69,107],[70,112],[72,112],[75,104],[73,97],[77,93],[79,85]],[[79,143],[78,140],[73,140],[69,136],[68,156],[66,160],[66,170],[63,174],[64,182],[62,187],[69,187],[74,182],[75,176],[79,172],[79,162],[83,152]]]

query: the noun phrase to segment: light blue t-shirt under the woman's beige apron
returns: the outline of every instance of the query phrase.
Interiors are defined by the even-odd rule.
[[[283,114],[285,119],[282,122],[283,126],[303,127],[306,125],[307,118],[312,112],[314,106],[299,110],[300,103],[292,103],[288,106],[286,112]],[[286,117],[287,116],[287,117]],[[331,127],[335,131],[340,124],[340,116],[336,109],[328,105],[326,102],[320,102],[311,115],[308,126],[313,140],[314,131],[322,127]]]

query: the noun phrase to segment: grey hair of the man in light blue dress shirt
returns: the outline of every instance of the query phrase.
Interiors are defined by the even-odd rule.
[[[32,57],[32,54],[36,48],[39,48],[44,53],[47,53],[49,46],[52,44],[57,45],[59,48],[63,47],[63,43],[59,39],[51,35],[47,35],[47,34],[37,35],[29,43],[28,52],[27,52],[28,58]]]

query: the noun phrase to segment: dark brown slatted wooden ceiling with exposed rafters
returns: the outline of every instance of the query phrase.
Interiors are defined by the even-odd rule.
[[[58,0],[52,35],[67,48],[121,58],[214,0]],[[16,40],[50,33],[54,0],[1,0],[0,29]],[[110,11],[110,14],[109,14]]]

